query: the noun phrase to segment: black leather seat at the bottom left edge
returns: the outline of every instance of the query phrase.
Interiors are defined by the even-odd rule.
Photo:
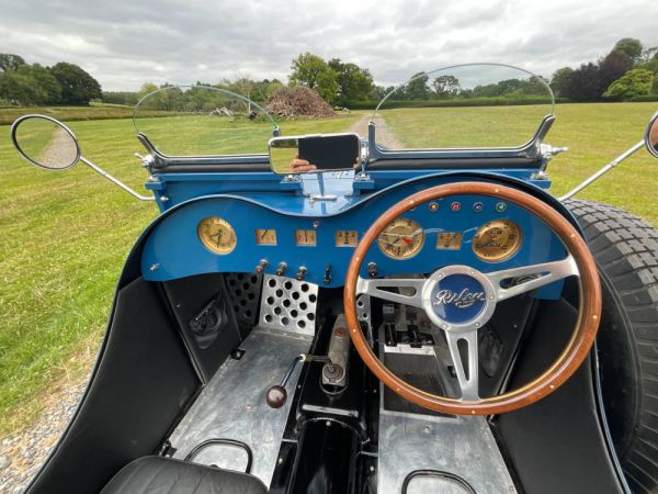
[[[162,457],[128,463],[101,494],[264,494],[265,485],[247,473]]]

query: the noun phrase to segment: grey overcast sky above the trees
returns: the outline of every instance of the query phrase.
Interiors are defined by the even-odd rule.
[[[627,36],[658,45],[658,0],[0,0],[0,53],[78,64],[104,90],[285,79],[303,52],[353,61],[386,86],[472,61],[551,76]]]

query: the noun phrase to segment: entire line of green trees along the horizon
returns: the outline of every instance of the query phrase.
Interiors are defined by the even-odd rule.
[[[430,80],[418,72],[404,87],[384,87],[374,82],[367,68],[340,58],[325,60],[304,53],[291,63],[288,86],[305,86],[317,91],[327,102],[351,106],[360,102],[376,102],[389,92],[392,100],[427,101],[447,99],[520,99],[530,101],[545,94],[544,82],[555,96],[574,101],[658,99],[658,47],[645,47],[639,40],[620,40],[612,50],[597,61],[577,68],[563,67],[551,79],[541,76],[526,80],[509,79],[496,83],[462,88],[460,80],[441,75]],[[216,83],[196,85],[227,89],[264,103],[283,86],[279,79],[253,79],[236,75]],[[161,85],[160,88],[170,86]],[[136,104],[140,98],[158,89],[152,82],[139,91],[101,91],[100,83],[77,65],[60,61],[53,67],[27,64],[14,54],[0,54],[0,105],[89,104],[92,100],[106,103]]]

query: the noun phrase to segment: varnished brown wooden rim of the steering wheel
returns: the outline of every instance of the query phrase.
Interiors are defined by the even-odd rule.
[[[371,246],[392,220],[428,201],[458,194],[504,199],[536,215],[553,229],[578,270],[579,314],[576,328],[555,362],[530,383],[479,400],[451,398],[419,390],[390,372],[370,348],[356,317],[359,272]],[[510,187],[488,182],[457,182],[417,192],[383,213],[359,242],[345,276],[343,292],[345,323],[356,351],[370,370],[394,393],[424,408],[456,415],[491,415],[531,405],[564,384],[585,361],[594,343],[601,317],[601,285],[595,261],[578,231],[541,200]]]

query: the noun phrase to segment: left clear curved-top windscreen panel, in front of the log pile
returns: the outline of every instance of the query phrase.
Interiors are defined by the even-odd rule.
[[[154,91],[135,106],[134,123],[163,156],[266,154],[276,126],[253,101],[208,86]]]

